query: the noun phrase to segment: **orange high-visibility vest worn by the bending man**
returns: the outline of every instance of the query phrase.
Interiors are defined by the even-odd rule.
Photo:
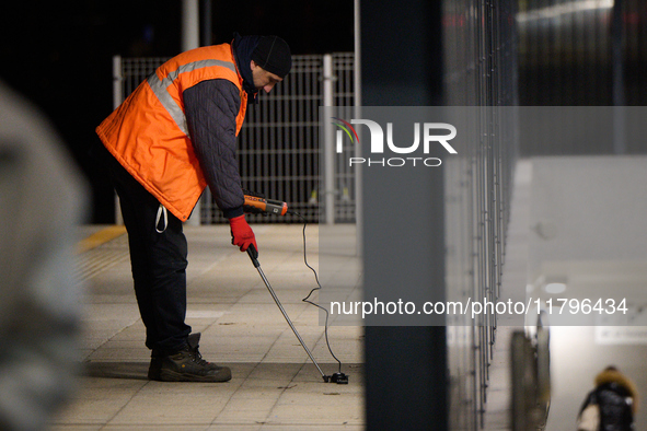
[[[96,128],[130,175],[182,221],[207,186],[188,136],[182,93],[211,79],[229,80],[240,91],[238,136],[247,93],[229,44],[192,49],[166,61]]]

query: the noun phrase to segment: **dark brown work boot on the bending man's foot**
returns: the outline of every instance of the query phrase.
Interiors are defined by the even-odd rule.
[[[231,370],[207,362],[198,351],[200,334],[188,336],[188,345],[169,356],[160,356],[153,350],[148,377],[161,382],[227,382]]]

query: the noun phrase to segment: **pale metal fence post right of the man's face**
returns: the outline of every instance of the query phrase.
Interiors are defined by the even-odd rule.
[[[326,54],[323,56],[323,105],[333,106],[333,56]],[[322,125],[324,131],[324,208],[326,224],[335,223],[335,150],[333,143],[333,125],[324,120]]]

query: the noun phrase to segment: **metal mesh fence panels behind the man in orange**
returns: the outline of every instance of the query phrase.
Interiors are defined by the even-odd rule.
[[[354,55],[332,54],[333,101],[353,106]],[[323,105],[324,71],[322,55],[292,56],[292,69],[269,94],[259,92],[258,104],[250,105],[238,137],[240,173],[245,189],[288,202],[309,222],[317,222],[320,199],[319,107]],[[115,57],[115,105],[167,58]],[[350,150],[349,150],[350,151]],[[355,220],[354,174],[339,161],[335,170],[335,221]],[[250,215],[254,222],[300,222],[282,218]],[[207,188],[200,199],[200,223],[224,222]]]

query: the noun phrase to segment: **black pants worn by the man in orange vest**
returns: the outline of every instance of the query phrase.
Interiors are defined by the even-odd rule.
[[[146,346],[162,353],[175,352],[186,346],[190,334],[190,326],[184,323],[187,244],[182,221],[167,211],[167,225],[158,232],[160,202],[103,145],[97,153],[119,196]]]

